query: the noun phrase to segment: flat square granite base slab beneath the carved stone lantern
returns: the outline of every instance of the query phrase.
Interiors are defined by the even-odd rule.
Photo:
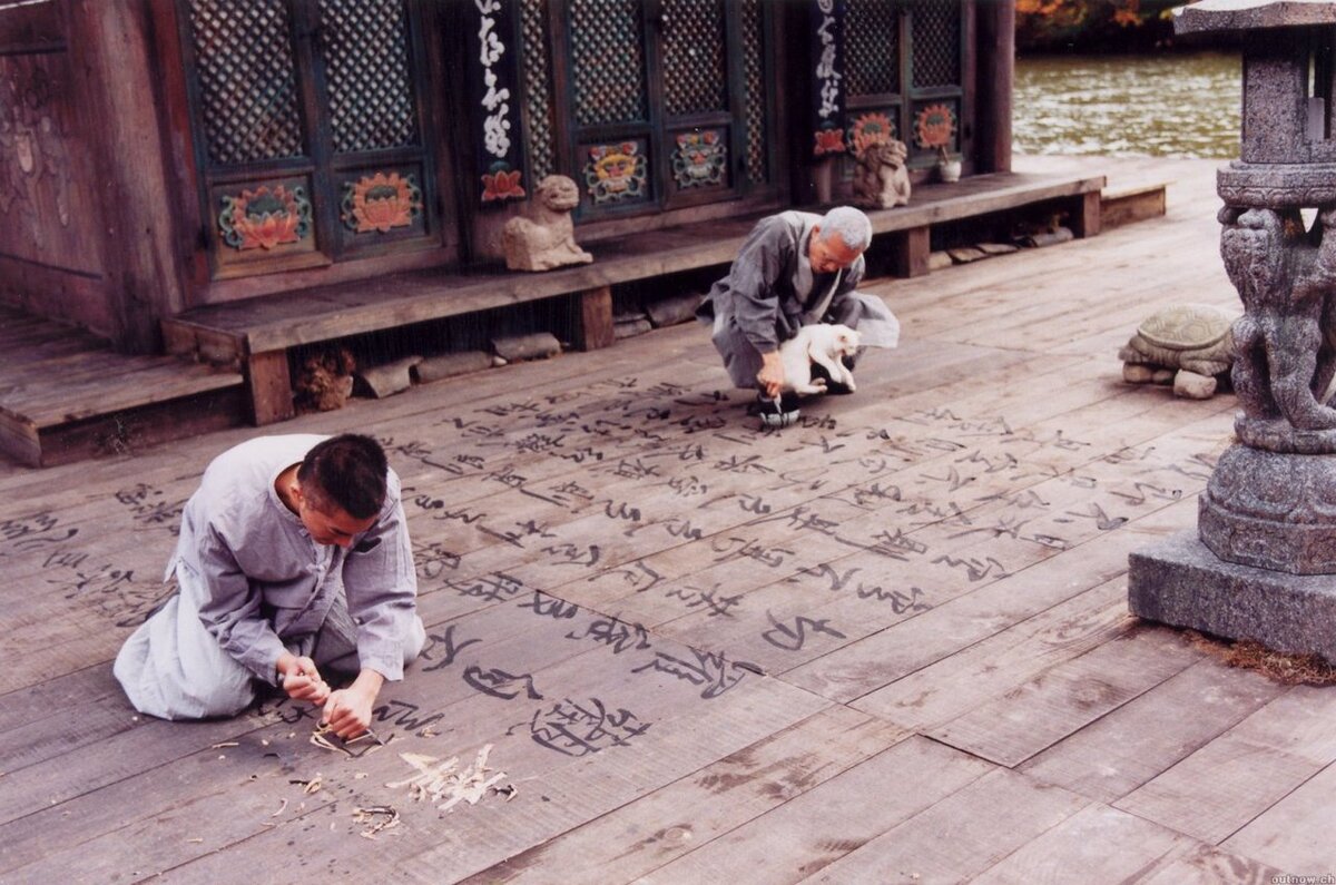
[[[1336,663],[1336,578],[1226,563],[1193,532],[1129,557],[1133,615]]]

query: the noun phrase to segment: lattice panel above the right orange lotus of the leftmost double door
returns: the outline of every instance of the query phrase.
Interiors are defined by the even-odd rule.
[[[321,0],[319,12],[335,152],[417,144],[403,0]]]

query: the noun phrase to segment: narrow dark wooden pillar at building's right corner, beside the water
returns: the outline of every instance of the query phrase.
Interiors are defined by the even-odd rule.
[[[1011,94],[1015,87],[1015,0],[977,5],[979,24],[978,171],[1011,171]]]

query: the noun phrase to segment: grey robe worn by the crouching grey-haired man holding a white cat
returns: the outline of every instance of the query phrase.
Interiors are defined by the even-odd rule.
[[[900,325],[882,299],[854,291],[863,279],[862,255],[834,274],[812,271],[808,246],[820,221],[791,210],[756,222],[728,275],[696,310],[701,322],[713,325],[715,348],[739,388],[756,386],[762,353],[814,322],[858,329],[866,346],[894,348],[899,341]]]

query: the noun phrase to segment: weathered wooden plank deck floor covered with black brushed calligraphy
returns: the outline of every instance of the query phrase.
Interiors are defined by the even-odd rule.
[[[1214,167],[1097,162],[1172,179],[1168,214],[871,286],[902,346],[783,432],[695,326],[285,425],[378,434],[407,489],[430,643],[354,755],[282,703],[136,717],[111,676],[257,430],[0,472],[0,880],[1336,874],[1336,690],[1126,614],[1129,551],[1194,524],[1230,433],[1232,397],[1114,356],[1160,305],[1236,303]]]

